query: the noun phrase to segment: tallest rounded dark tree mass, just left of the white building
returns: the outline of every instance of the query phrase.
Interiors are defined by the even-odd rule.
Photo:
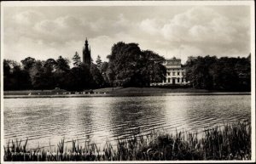
[[[166,75],[161,64],[164,58],[152,51],[141,51],[137,43],[114,44],[108,59],[107,76],[114,86],[144,87]]]

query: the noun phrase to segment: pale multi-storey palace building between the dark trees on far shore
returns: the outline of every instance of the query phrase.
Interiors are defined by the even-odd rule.
[[[162,85],[186,85],[189,84],[185,76],[185,68],[181,64],[181,59],[166,59],[164,63],[166,66],[166,80],[158,83],[151,83],[151,86],[162,86]]]

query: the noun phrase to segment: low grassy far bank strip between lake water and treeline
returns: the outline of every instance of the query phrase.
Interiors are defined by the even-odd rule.
[[[209,91],[206,89],[195,88],[99,88],[85,90],[82,92],[71,92],[65,90],[21,90],[21,91],[4,91],[3,98],[68,98],[68,97],[112,97],[112,96],[154,96],[166,93],[178,93],[189,95],[230,95],[230,94],[251,94],[250,92],[220,92]]]

